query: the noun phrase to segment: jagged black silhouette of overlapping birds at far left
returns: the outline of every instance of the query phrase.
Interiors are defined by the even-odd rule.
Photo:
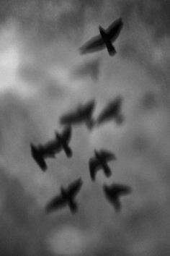
[[[55,154],[64,150],[68,157],[71,157],[72,151],[68,146],[68,142],[71,140],[71,127],[66,127],[61,134],[55,132],[55,140],[47,142],[45,145],[35,146],[32,143],[31,154],[42,171],[46,171],[47,164],[45,158],[55,158]]]

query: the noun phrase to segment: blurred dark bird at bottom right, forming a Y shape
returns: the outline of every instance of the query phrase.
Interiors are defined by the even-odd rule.
[[[132,192],[129,186],[123,184],[112,184],[110,186],[104,184],[103,189],[107,200],[112,203],[117,212],[121,209],[120,196],[128,195]]]

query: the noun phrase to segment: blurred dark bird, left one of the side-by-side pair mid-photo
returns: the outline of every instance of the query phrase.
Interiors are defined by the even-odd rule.
[[[75,111],[71,111],[68,114],[61,116],[61,124],[73,125],[85,123],[86,127],[91,129],[94,126],[94,119],[92,119],[94,106],[94,99],[88,101],[84,105],[79,105]]]

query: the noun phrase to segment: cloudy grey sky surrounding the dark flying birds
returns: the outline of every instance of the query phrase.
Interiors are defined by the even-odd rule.
[[[118,17],[117,54],[80,56],[98,25]],[[0,255],[170,255],[169,0],[1,0],[0,22]],[[117,95],[125,123],[76,127],[73,158],[61,153],[42,173],[30,142],[53,139],[78,103],[95,98],[97,116]],[[117,161],[92,184],[94,148]],[[46,216],[48,200],[79,176],[79,212]],[[104,200],[112,182],[133,188],[120,214]]]

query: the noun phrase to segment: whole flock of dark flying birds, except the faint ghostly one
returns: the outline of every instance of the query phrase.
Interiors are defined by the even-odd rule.
[[[91,38],[87,41],[84,46],[80,48],[81,54],[87,54],[94,51],[99,51],[107,48],[109,56],[115,55],[115,47],[112,43],[116,40],[122,29],[122,19],[119,18],[112,22],[111,25],[104,30],[99,26],[99,35]],[[122,98],[118,96],[113,101],[110,101],[106,107],[99,114],[95,120],[93,117],[95,101],[92,99],[84,105],[79,105],[75,110],[70,111],[67,114],[63,114],[60,119],[60,123],[63,124],[64,128],[62,132],[55,132],[55,139],[47,142],[44,145],[33,145],[30,144],[32,157],[36,163],[40,166],[42,171],[46,171],[48,166],[45,161],[46,158],[55,158],[55,155],[60,153],[62,150],[66,153],[68,158],[71,158],[73,152],[69,145],[71,141],[71,127],[77,124],[85,124],[87,129],[91,130],[94,127],[104,122],[115,119],[117,124],[122,124],[124,118],[121,113]],[[104,171],[104,175],[109,177],[112,175],[112,171],[108,166],[109,161],[115,161],[116,156],[109,150],[101,149],[94,150],[94,156],[89,159],[89,175],[91,181],[94,182],[99,170]],[[65,206],[68,206],[72,213],[75,213],[78,209],[76,203],[76,195],[81,189],[83,182],[81,178],[76,179],[68,187],[61,187],[61,193],[56,195],[45,207],[47,213],[53,210],[58,210]],[[120,196],[128,195],[131,192],[131,188],[125,184],[103,185],[104,195],[115,207],[115,210],[120,211],[121,203]]]

